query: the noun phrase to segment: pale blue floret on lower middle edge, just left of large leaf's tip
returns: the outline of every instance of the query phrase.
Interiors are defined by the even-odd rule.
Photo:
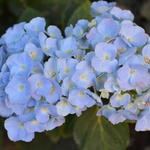
[[[73,89],[69,93],[68,101],[79,108],[91,107],[96,102],[93,98],[87,95],[83,90]]]

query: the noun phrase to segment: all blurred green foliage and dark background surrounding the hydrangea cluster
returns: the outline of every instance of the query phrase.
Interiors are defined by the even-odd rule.
[[[47,25],[61,30],[78,19],[91,19],[93,0],[0,0],[0,35],[13,24],[45,17]],[[113,0],[107,0],[113,1]],[[114,0],[124,9],[130,9],[135,22],[150,34],[150,0]],[[0,150],[150,150],[150,133],[137,133],[134,124],[113,126],[106,119],[96,117],[97,108],[91,108],[77,118],[66,117],[66,123],[50,132],[36,134],[31,143],[11,142],[0,119]],[[130,129],[130,135],[129,135]]]

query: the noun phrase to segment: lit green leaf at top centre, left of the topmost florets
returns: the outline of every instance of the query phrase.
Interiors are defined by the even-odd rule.
[[[75,24],[79,19],[91,19],[90,16],[90,1],[86,0],[82,5],[80,5],[73,13],[69,19],[68,24]]]

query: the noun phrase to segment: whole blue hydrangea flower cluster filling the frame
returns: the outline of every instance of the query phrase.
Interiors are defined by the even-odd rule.
[[[91,21],[60,29],[33,18],[0,39],[0,115],[12,141],[61,126],[97,105],[113,124],[150,130],[150,38],[133,14],[93,2]]]

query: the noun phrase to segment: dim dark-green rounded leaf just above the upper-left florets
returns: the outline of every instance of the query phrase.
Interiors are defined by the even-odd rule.
[[[34,17],[42,17],[41,13],[31,7],[26,7],[26,9],[22,12],[21,16],[19,17],[19,21],[30,21]]]

